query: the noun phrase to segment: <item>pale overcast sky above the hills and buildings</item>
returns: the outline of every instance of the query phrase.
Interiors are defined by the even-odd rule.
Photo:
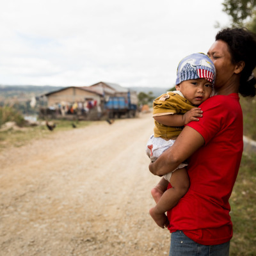
[[[0,84],[172,87],[179,61],[207,53],[223,0],[0,3]]]

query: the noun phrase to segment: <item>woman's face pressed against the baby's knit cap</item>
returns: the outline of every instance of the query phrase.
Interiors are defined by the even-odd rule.
[[[208,53],[216,68],[216,80],[214,88],[222,88],[232,83],[232,76],[236,70],[236,65],[231,61],[231,54],[228,45],[222,40],[217,40],[212,44]]]

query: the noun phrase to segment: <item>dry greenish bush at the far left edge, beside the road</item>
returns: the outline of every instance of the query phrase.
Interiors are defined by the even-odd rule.
[[[10,106],[0,107],[0,127],[6,122],[15,122],[19,126],[26,124],[26,121],[23,116],[20,115],[19,111]]]

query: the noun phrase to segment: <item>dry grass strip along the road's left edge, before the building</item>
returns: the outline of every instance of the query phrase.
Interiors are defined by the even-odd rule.
[[[44,121],[39,121],[44,122]],[[0,132],[0,151],[8,147],[22,147],[31,140],[38,140],[51,136],[52,132],[60,132],[74,129],[72,124],[76,125],[75,129],[86,127],[92,124],[91,121],[69,121],[69,120],[51,120],[56,124],[54,131],[49,131],[46,125],[37,125],[33,127],[20,127],[19,129],[9,129]]]

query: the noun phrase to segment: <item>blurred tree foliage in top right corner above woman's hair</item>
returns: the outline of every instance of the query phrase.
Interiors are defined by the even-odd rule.
[[[233,26],[246,26],[256,33],[256,0],[224,0],[223,6]]]

